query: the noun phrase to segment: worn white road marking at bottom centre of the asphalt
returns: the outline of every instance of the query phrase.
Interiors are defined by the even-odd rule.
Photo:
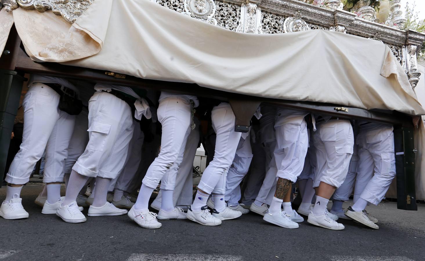
[[[240,255],[167,255],[167,254],[132,254],[127,261],[242,261]]]

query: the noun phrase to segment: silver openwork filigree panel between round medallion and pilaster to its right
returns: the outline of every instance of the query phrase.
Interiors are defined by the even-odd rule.
[[[217,25],[236,31],[241,17],[241,7],[221,1],[216,1],[215,6],[214,18],[217,20]]]

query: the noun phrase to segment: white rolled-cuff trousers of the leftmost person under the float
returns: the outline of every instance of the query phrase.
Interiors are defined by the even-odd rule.
[[[60,111],[59,94],[34,83],[23,100],[24,128],[20,150],[15,155],[6,182],[25,184],[35,164],[46,151],[43,182],[62,182],[64,161],[74,129],[75,116]]]

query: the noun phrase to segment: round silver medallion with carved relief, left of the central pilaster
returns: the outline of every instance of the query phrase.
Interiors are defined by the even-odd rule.
[[[212,25],[217,25],[214,18],[214,0],[184,0],[184,14],[197,18]]]

